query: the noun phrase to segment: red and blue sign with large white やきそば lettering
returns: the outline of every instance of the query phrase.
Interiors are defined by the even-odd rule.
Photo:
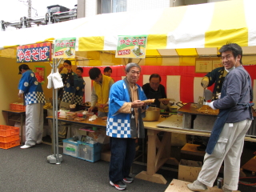
[[[44,42],[17,47],[17,62],[50,62],[51,43]]]

